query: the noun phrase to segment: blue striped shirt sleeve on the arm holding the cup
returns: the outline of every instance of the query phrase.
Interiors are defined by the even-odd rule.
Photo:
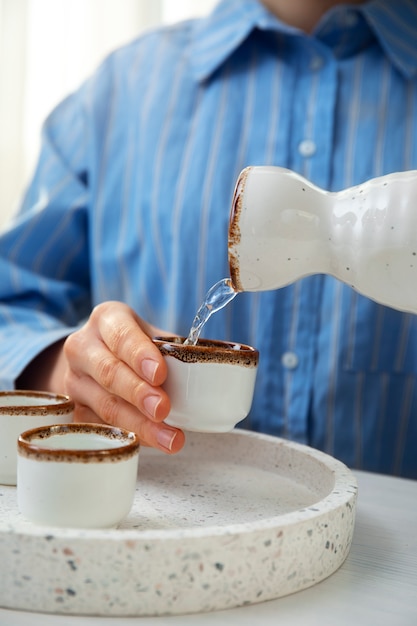
[[[0,388],[90,310],[87,154],[80,94],[45,122],[21,209],[0,235]]]

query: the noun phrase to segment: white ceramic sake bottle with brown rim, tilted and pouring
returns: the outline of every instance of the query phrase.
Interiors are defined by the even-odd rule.
[[[417,312],[417,170],[329,192],[281,167],[248,167],[235,189],[229,265],[238,291],[329,274]]]

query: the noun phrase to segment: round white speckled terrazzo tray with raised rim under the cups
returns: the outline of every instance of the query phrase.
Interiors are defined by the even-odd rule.
[[[356,480],[282,439],[188,433],[142,448],[135,502],[116,529],[34,526],[0,485],[0,606],[84,615],[170,615],[278,598],[348,555]]]

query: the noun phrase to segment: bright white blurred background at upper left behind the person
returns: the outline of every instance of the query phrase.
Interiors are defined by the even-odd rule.
[[[111,50],[217,0],[0,0],[0,228],[17,209],[51,109]]]

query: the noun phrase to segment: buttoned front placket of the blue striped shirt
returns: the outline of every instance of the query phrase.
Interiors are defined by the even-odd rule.
[[[329,188],[337,63],[319,41],[297,39],[292,53],[297,57],[297,75],[292,94],[289,167],[318,186]],[[320,275],[298,281],[291,287],[287,307],[286,349],[281,355],[284,432],[301,442],[308,441],[322,286]]]

